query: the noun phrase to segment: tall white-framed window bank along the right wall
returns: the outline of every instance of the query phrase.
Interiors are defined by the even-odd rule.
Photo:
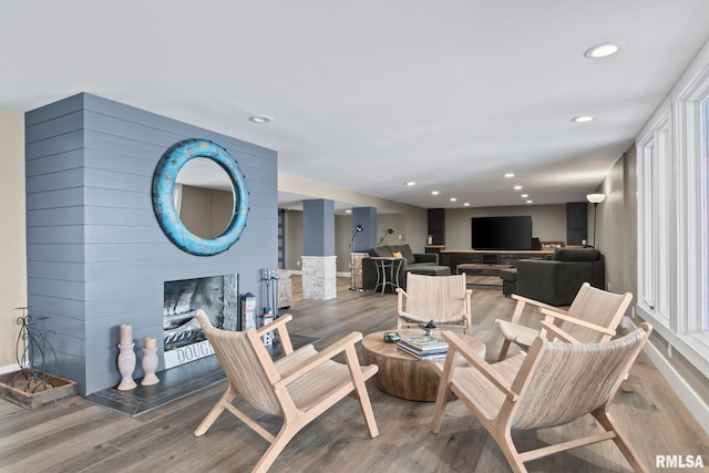
[[[709,377],[709,45],[637,152],[637,309]]]

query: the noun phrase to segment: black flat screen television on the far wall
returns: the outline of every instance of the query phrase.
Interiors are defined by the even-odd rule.
[[[473,249],[533,249],[532,217],[473,217]]]

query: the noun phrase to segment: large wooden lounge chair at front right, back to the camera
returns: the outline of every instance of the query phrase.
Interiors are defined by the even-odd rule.
[[[527,471],[524,462],[606,440],[615,442],[635,471],[646,472],[607,409],[650,331],[651,327],[643,323],[605,343],[564,343],[537,337],[528,353],[495,364],[487,364],[460,337],[445,331],[445,361],[433,363],[441,381],[431,431],[440,431],[452,391],[490,432],[515,472]],[[456,353],[471,366],[455,366]],[[552,428],[586,414],[592,414],[604,431],[526,452],[520,452],[512,440],[514,429]]]

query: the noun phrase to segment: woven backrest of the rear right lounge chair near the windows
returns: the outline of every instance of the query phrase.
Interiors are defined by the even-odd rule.
[[[568,316],[615,330],[631,300],[633,295],[630,292],[608,292],[584,282],[568,308]],[[567,321],[562,321],[559,327],[584,343],[597,343],[610,339],[609,335],[589,330]]]

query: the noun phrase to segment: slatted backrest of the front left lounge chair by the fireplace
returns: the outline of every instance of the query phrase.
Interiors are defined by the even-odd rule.
[[[280,403],[264,368],[264,362],[271,362],[270,358],[263,360],[249,339],[249,331],[255,332],[255,330],[253,328],[246,331],[218,329],[201,309],[197,310],[196,318],[236,392],[254,408],[280,415]]]

